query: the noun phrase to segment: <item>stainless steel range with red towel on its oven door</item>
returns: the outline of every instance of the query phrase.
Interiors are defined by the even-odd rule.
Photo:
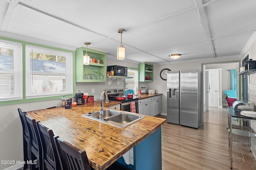
[[[117,100],[116,97],[111,97],[111,96],[120,96],[120,94],[123,95],[124,94],[123,89],[106,89],[105,91],[108,93],[108,100],[121,102],[120,104],[121,110],[131,112],[131,104],[132,102],[134,102],[136,106],[136,113],[139,112],[138,98],[132,98],[132,99],[126,98],[126,100],[120,101],[120,100]]]

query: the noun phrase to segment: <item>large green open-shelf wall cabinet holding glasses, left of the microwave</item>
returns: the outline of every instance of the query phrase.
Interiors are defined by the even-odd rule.
[[[83,64],[85,54],[85,47],[76,49],[76,82],[106,82],[106,53],[88,49],[90,59],[100,60],[100,63],[90,62],[90,65]]]

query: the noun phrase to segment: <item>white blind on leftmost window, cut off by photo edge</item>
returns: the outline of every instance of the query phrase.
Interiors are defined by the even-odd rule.
[[[0,101],[22,99],[22,45],[0,40]]]

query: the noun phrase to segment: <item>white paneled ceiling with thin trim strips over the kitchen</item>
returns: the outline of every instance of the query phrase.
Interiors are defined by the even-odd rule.
[[[126,59],[169,63],[243,57],[256,31],[256,0],[0,0],[0,35]],[[180,53],[173,60],[168,55]]]

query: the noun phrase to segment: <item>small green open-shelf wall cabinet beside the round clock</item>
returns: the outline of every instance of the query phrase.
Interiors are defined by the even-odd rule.
[[[153,82],[154,66],[151,63],[140,63],[139,64],[139,81],[140,82]],[[151,80],[146,80],[146,77]]]

